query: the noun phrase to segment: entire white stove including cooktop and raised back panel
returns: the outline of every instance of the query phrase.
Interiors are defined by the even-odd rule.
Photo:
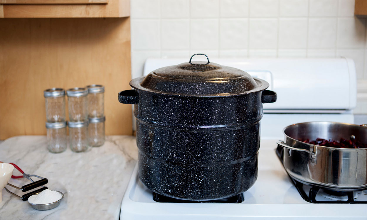
[[[209,58],[210,59],[210,58]],[[144,74],[185,59],[148,59]],[[278,93],[275,103],[264,104],[261,120],[258,179],[244,192],[241,203],[161,203],[132,173],[121,203],[120,219],[367,219],[366,204],[306,202],[288,177],[275,149],[284,127],[306,121],[353,123],[356,73],[350,59],[213,59],[269,82]],[[317,194],[322,201],[346,200]],[[366,201],[367,191],[354,194]]]

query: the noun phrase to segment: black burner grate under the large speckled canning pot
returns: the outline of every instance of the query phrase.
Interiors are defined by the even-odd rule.
[[[192,200],[184,200],[184,199],[175,199],[171,197],[167,197],[165,195],[158,194],[153,192],[153,200],[156,202],[178,202],[178,203],[241,203],[245,201],[243,193],[224,198],[224,199],[216,199],[216,200],[206,200],[206,201],[192,201]]]

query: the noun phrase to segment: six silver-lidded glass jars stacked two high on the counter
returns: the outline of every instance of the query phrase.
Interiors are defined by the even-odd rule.
[[[102,85],[71,88],[68,96],[69,122],[65,121],[65,90],[51,88],[44,91],[46,103],[47,147],[52,153],[67,148],[66,125],[69,126],[69,144],[74,152],[83,152],[89,146],[105,142],[104,92]]]

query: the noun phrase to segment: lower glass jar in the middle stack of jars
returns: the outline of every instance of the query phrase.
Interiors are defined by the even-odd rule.
[[[88,149],[88,121],[69,121],[70,149],[83,152]]]

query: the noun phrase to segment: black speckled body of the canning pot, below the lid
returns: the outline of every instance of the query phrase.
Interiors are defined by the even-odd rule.
[[[139,178],[188,200],[237,195],[257,179],[261,92],[182,97],[138,91]]]

